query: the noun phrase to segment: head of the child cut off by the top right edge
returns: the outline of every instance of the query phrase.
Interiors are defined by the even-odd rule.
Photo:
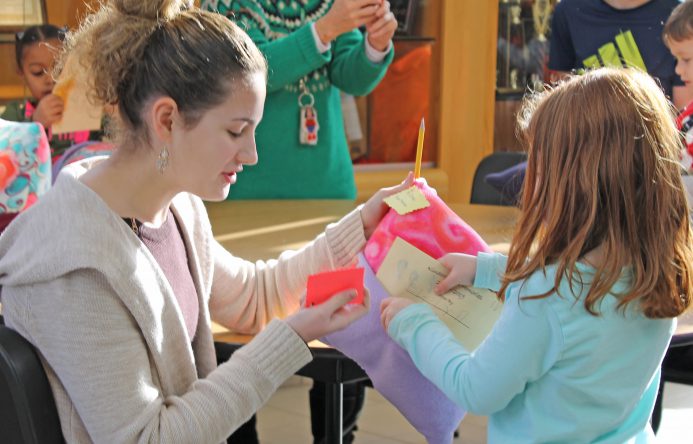
[[[662,38],[676,57],[676,74],[686,84],[693,82],[693,0],[674,8],[664,25]]]

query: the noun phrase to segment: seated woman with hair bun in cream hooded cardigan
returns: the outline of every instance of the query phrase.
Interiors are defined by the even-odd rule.
[[[349,292],[299,309],[306,279],[354,264],[411,175],[300,251],[244,261],[202,199],[257,161],[267,67],[250,38],[188,1],[112,0],[65,46],[117,107],[117,149],[67,166],[3,234],[5,322],[38,350],[67,442],[221,442],[311,360],[306,341],[365,314]],[[257,335],[217,366],[212,320]]]

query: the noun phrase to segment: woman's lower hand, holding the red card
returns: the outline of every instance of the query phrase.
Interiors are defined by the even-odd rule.
[[[306,342],[339,331],[368,313],[370,294],[364,289],[363,305],[347,304],[356,297],[354,290],[336,293],[330,299],[313,307],[302,307],[286,318],[291,328]]]

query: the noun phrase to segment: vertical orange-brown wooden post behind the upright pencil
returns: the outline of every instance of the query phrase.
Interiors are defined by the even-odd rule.
[[[448,200],[469,202],[474,170],[493,152],[498,2],[443,2],[440,167]]]

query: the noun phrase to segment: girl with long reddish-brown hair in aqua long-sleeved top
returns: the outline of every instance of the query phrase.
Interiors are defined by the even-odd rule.
[[[450,272],[438,294],[474,285],[504,301],[476,350],[425,304],[381,304],[383,325],[421,372],[489,416],[489,442],[653,442],[659,367],[693,296],[671,111],[635,69],[590,71],[527,100],[509,256],[441,258]]]

